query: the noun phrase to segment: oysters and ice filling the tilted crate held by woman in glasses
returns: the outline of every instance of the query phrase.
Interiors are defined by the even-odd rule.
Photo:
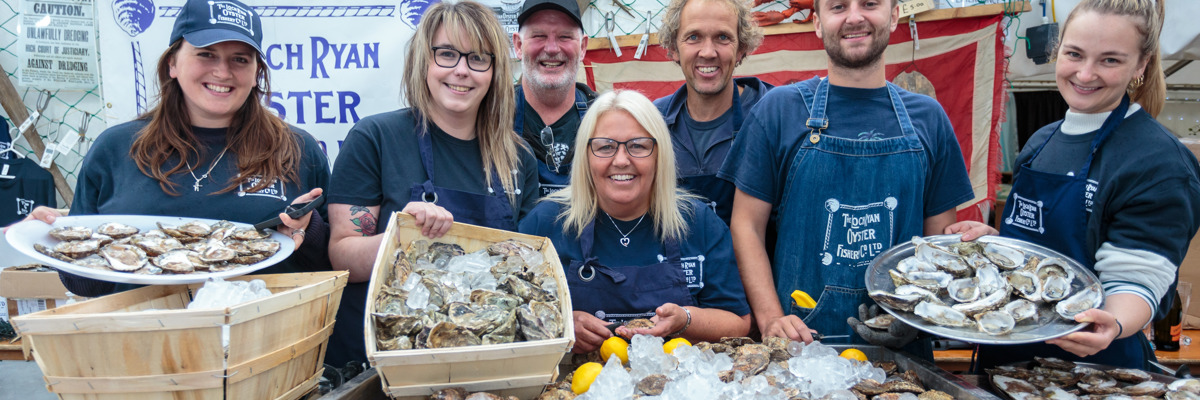
[[[372,312],[380,351],[563,336],[553,264],[528,244],[467,255],[456,244],[414,240],[394,257]]]

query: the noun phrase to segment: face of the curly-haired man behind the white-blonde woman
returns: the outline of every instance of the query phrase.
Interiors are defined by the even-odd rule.
[[[745,54],[738,53],[738,18],[731,5],[688,2],[676,46],[672,59],[683,67],[689,95],[728,95],[733,90],[733,68]]]

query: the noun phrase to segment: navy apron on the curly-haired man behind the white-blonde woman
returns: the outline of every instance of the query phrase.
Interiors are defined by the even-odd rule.
[[[712,165],[704,165],[704,154],[720,143],[733,141],[738,135],[738,130],[742,129],[742,98],[738,91],[738,88],[733,88],[733,135],[730,135],[728,138],[714,141],[713,143],[708,143],[708,147],[701,149],[692,142],[686,123],[679,121],[676,124],[677,132],[671,133],[671,139],[678,149],[676,157],[691,156],[695,159],[692,165],[697,166],[696,169],[691,171],[678,169],[679,187],[704,196],[707,202],[704,204],[713,209],[716,216],[721,217],[721,221],[725,221],[726,225],[730,223],[730,217],[733,215],[733,191],[736,186],[728,180],[716,178],[716,172],[721,169],[725,156],[715,157]]]

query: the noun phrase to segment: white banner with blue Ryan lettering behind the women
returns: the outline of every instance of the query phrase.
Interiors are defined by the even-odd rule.
[[[114,125],[157,101],[155,68],[184,1],[98,1],[104,101]],[[263,56],[274,91],[268,106],[312,133],[330,162],[354,123],[401,107],[404,52],[420,16],[436,0],[382,2],[248,2],[263,19]],[[107,8],[109,16],[103,14]]]

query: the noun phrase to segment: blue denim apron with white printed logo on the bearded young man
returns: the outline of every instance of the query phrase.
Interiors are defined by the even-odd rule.
[[[779,244],[773,275],[785,312],[826,335],[851,335],[846,318],[870,304],[866,265],[898,241],[922,234],[929,160],[896,88],[887,84],[896,120],[881,131],[900,135],[878,141],[827,135],[836,130],[826,117],[829,83],[816,92],[796,85],[810,106],[800,149],[791,160],[778,205]],[[851,135],[857,132],[851,132]],[[817,299],[814,309],[792,304],[792,291]]]

